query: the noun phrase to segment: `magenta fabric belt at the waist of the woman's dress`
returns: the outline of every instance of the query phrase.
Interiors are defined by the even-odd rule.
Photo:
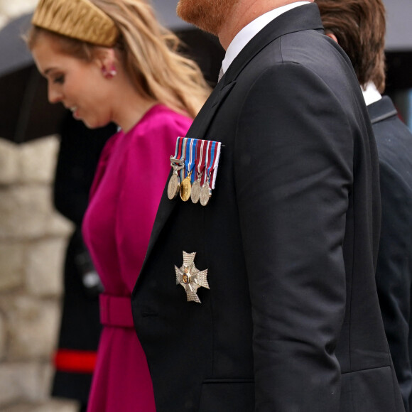
[[[100,301],[100,322],[104,326],[134,327],[129,296],[111,296],[102,293]]]

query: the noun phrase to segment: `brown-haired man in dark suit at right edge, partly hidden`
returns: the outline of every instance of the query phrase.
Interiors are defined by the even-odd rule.
[[[376,285],[406,411],[412,411],[412,134],[385,88],[381,0],[316,0],[325,31],[354,65],[378,147],[382,224]]]

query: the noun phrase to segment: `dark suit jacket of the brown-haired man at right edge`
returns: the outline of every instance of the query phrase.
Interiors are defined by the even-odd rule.
[[[412,134],[389,97],[368,106],[379,153],[382,229],[376,285],[406,411],[412,411]]]

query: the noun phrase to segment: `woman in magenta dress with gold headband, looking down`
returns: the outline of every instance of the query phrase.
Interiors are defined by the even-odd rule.
[[[88,412],[154,412],[130,296],[178,136],[209,93],[146,0],[40,0],[28,35],[50,102],[119,131],[99,161],[83,234],[102,278],[104,325]]]

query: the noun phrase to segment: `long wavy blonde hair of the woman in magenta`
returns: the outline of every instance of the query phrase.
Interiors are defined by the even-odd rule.
[[[180,40],[161,26],[146,0],[89,0],[114,21],[119,38],[114,45],[127,75],[141,96],[166,104],[194,118],[210,94],[200,68],[178,53]],[[92,60],[96,45],[34,26],[28,33],[33,48],[40,31],[60,39],[63,52]]]

